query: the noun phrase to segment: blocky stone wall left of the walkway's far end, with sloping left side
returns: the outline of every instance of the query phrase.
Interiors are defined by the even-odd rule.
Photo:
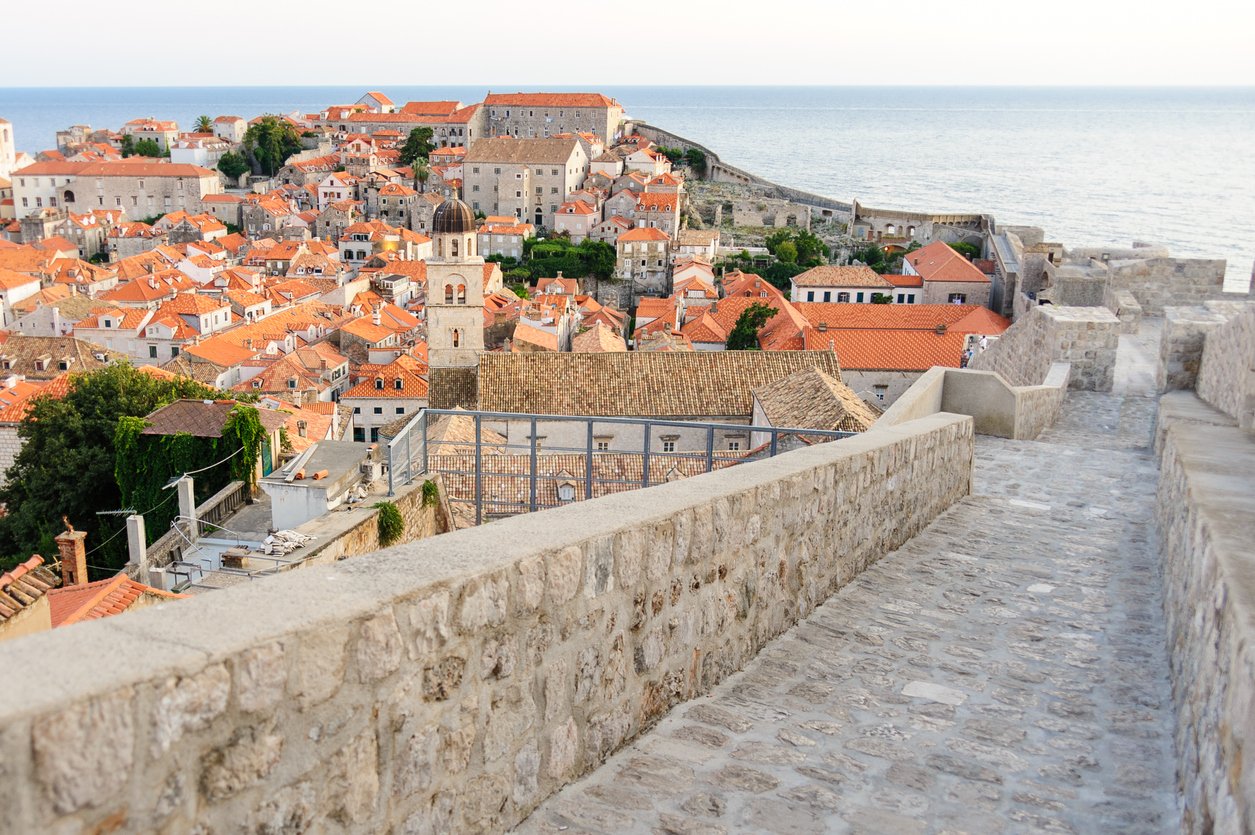
[[[1106,308],[1030,309],[968,363],[1003,375],[1012,385],[1039,385],[1054,363],[1068,363],[1068,385],[1109,392],[1116,377],[1119,319]]]

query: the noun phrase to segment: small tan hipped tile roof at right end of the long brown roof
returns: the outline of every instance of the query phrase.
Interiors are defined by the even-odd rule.
[[[813,368],[756,388],[754,398],[776,427],[866,432],[880,417],[848,385]]]

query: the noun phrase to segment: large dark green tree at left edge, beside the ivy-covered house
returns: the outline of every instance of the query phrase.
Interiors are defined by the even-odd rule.
[[[64,530],[61,516],[88,532],[89,549],[100,549],[90,560],[94,565],[125,563],[125,537],[114,536],[123,530],[122,520],[97,516],[97,511],[122,507],[114,478],[119,418],[143,417],[182,397],[216,394],[188,378],[159,379],[117,364],[73,374],[60,399],[36,397],[18,426],[21,452],[0,487],[0,502],[8,510],[0,517],[0,566],[31,552],[55,554],[53,536]]]

